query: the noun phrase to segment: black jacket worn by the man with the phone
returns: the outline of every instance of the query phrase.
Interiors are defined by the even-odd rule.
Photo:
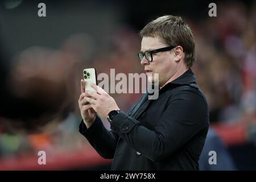
[[[100,117],[79,131],[103,158],[113,159],[112,170],[198,170],[209,127],[209,112],[196,77],[188,69],[159,90],[148,94],[113,119],[111,131]]]

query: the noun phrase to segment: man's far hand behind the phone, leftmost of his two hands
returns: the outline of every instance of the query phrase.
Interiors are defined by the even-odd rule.
[[[88,101],[86,101],[86,98],[88,97],[90,96],[85,92],[85,81],[81,80],[81,94],[78,102],[82,119],[84,120],[87,128],[92,126],[96,118],[96,111],[92,108],[92,105]]]

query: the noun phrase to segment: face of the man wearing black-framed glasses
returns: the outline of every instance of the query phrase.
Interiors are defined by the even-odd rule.
[[[168,47],[160,41],[160,38],[143,37],[141,42],[141,51],[151,51]],[[177,72],[179,61],[175,61],[174,51],[157,52],[152,54],[153,61],[149,62],[143,57],[141,64],[144,65],[148,81],[152,82],[154,73],[159,74],[159,86],[163,86]],[[150,74],[152,73],[152,74]]]

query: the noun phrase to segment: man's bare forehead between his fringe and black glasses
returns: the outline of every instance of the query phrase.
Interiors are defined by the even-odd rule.
[[[164,44],[160,38],[155,37],[143,37],[141,41],[141,51],[150,51],[158,48],[166,47],[166,44]]]

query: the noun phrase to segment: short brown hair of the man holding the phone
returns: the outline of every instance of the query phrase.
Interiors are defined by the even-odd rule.
[[[164,15],[149,22],[139,36],[159,37],[168,46],[181,46],[185,53],[185,64],[191,68],[195,63],[195,41],[191,28],[180,16]]]

